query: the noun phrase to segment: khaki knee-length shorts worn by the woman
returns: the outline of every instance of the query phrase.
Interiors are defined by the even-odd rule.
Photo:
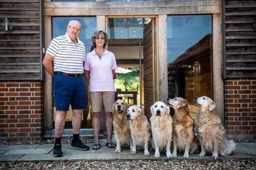
[[[92,112],[102,110],[102,100],[105,111],[112,112],[112,106],[115,103],[115,92],[90,92]]]

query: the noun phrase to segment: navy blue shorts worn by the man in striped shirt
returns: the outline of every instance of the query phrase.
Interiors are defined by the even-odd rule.
[[[54,75],[53,91],[56,110],[86,109],[87,98],[84,77]]]

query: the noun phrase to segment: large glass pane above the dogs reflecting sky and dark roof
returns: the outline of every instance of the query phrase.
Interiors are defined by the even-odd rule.
[[[168,97],[213,98],[212,16],[168,16]]]

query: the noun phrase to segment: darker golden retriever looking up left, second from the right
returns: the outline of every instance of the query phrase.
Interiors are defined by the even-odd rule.
[[[198,141],[195,137],[193,119],[189,114],[188,102],[183,98],[168,98],[167,104],[174,109],[172,156],[177,157],[178,148],[179,152],[184,152],[184,158],[189,158],[189,153],[196,152]]]

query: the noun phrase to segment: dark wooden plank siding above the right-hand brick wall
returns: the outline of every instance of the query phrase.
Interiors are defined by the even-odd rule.
[[[223,5],[224,78],[256,77],[256,1],[226,0]]]

